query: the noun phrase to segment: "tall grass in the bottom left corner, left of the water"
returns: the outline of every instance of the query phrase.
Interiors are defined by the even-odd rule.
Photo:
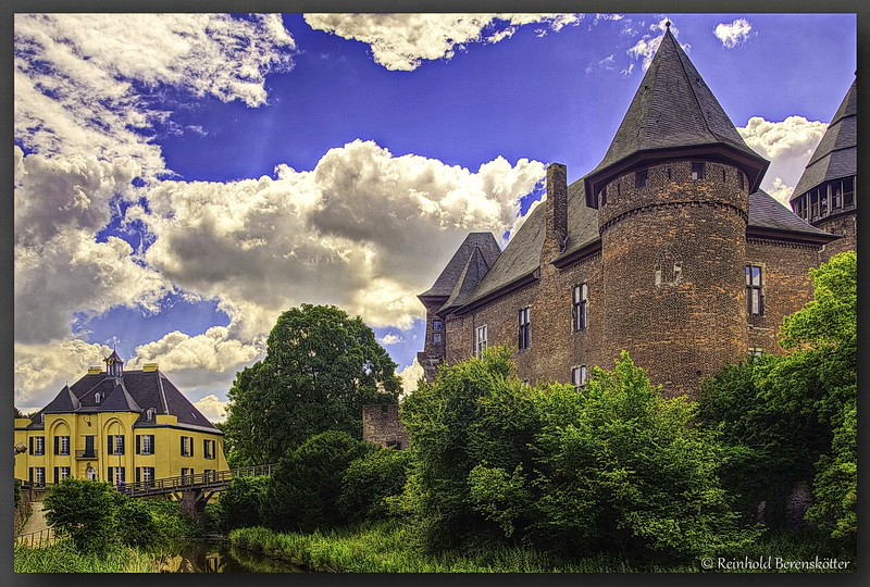
[[[15,573],[158,573],[151,555],[133,548],[117,548],[104,555],[83,554],[71,540],[48,548],[16,547]]]

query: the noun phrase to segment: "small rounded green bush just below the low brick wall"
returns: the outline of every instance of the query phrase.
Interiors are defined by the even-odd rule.
[[[350,463],[341,479],[337,505],[351,522],[390,515],[388,499],[402,492],[409,452],[372,449]]]

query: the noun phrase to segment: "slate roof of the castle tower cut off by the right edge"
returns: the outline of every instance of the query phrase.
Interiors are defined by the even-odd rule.
[[[858,174],[858,80],[852,83],[792,192],[792,200],[829,182]]]

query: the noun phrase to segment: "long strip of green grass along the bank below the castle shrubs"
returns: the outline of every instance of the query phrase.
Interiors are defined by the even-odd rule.
[[[426,554],[417,548],[413,526],[387,520],[355,528],[313,534],[276,533],[263,527],[229,533],[234,549],[270,557],[318,572],[337,573],[699,573],[700,561],[638,566],[604,553],[562,560],[532,548],[488,545],[476,550]],[[744,554],[749,560],[812,561],[838,558],[856,570],[855,555],[818,534],[775,533]],[[739,558],[743,560],[743,557]],[[775,565],[775,562],[774,562]],[[713,569],[713,572],[728,572]],[[732,572],[747,572],[735,569]],[[762,571],[763,572],[763,571]],[[784,570],[781,569],[781,572]],[[792,570],[792,572],[797,572]],[[809,572],[809,571],[804,571]],[[818,572],[831,572],[819,570]]]

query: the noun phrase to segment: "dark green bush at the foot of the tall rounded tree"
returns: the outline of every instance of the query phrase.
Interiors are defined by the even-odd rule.
[[[374,445],[330,430],[281,458],[269,478],[260,516],[275,529],[312,532],[344,524],[341,479],[352,461]]]

